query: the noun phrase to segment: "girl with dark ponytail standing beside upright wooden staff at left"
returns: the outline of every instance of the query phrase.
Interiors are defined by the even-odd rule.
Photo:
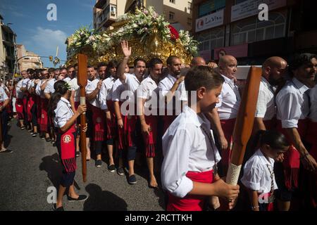
[[[63,166],[63,176],[58,188],[55,211],[63,211],[63,195],[68,188],[68,201],[86,200],[86,195],[77,195],[74,189],[74,177],[76,166],[75,158],[75,140],[76,130],[75,121],[82,113],[86,112],[86,105],[78,106],[74,113],[70,102],[70,86],[67,82],[60,80],[54,84],[55,93],[49,100],[49,116],[54,118],[54,127],[56,130],[56,146]],[[83,127],[87,131],[87,126]]]

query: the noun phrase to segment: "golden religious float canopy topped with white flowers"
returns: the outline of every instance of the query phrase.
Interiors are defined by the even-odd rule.
[[[135,14],[120,16],[112,26],[113,30],[101,33],[82,27],[71,35],[67,48],[72,56],[67,64],[77,62],[77,53],[86,54],[88,63],[94,66],[113,59],[120,61],[123,58],[120,41],[123,40],[132,46],[130,66],[136,58],[153,57],[161,58],[165,64],[168,56],[179,56],[182,63],[189,64],[197,54],[199,42],[188,31],[175,30],[153,7],[137,8]]]

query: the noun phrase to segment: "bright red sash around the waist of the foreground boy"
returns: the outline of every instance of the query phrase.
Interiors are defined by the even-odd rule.
[[[186,176],[192,181],[211,184],[213,182],[213,170],[206,172],[187,172]],[[204,207],[204,195],[186,195],[178,198],[168,193],[167,211],[202,211]]]

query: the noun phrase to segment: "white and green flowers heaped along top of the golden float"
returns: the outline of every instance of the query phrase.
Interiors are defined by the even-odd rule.
[[[166,22],[163,15],[159,15],[150,6],[148,9],[136,9],[135,14],[127,13],[120,16],[116,22],[128,21],[118,30],[110,30],[103,33],[95,33],[88,27],[77,30],[70,38],[72,42],[68,47],[73,48],[76,53],[89,46],[99,56],[103,56],[113,46],[118,46],[120,41],[139,39],[142,44],[146,44],[152,34],[157,34],[163,42],[180,43],[188,54],[197,54],[198,41],[190,36],[188,31],[177,30],[170,23]]]

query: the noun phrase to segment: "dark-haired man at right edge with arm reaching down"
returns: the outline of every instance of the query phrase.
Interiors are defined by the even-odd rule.
[[[275,164],[276,181],[278,191],[279,210],[290,210],[291,200],[293,207],[299,207],[295,203],[293,193],[302,190],[302,182],[299,182],[299,169],[309,172],[317,171],[317,163],[309,153],[309,148],[304,145],[304,137],[307,131],[307,117],[309,115],[309,88],[314,85],[317,72],[316,56],[310,53],[302,53],[294,57],[290,63],[290,76],[292,79],[285,84],[276,96],[278,108],[278,129],[282,131],[292,143],[290,150],[284,155],[284,161]],[[316,138],[316,135],[315,135]],[[302,166],[300,167],[302,162]],[[305,173],[305,172],[304,172]],[[314,190],[316,191],[316,190]]]

